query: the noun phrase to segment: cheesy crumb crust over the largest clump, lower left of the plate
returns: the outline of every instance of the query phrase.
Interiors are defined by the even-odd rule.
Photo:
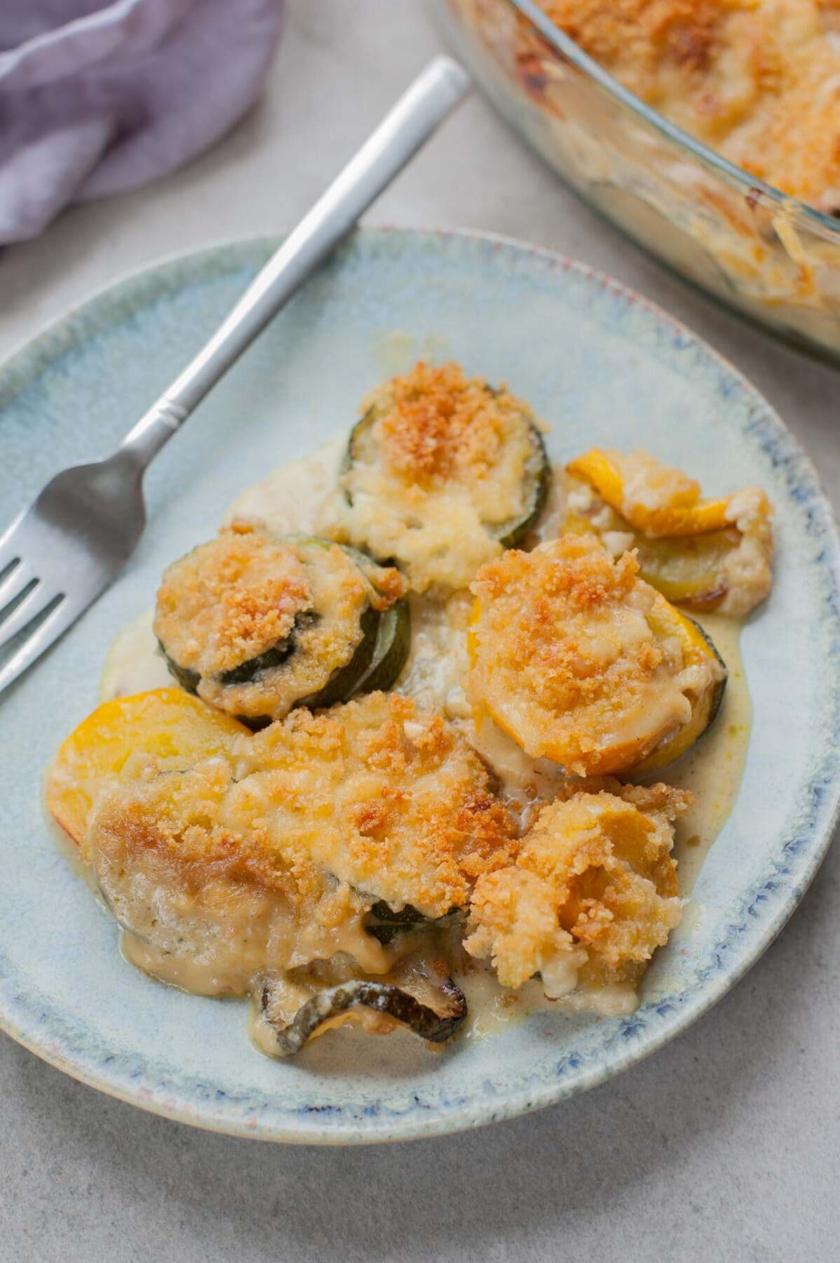
[[[373,693],[187,767],[143,755],[98,789],[82,849],[132,957],[168,980],[241,994],[337,954],[382,973],[362,926],[377,899],[441,917],[515,858],[489,784],[440,719]]]

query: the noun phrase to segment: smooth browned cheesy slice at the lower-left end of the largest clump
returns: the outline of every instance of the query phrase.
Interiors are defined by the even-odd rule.
[[[236,803],[222,759],[112,787],[88,845],[98,889],[131,932],[130,959],[190,991],[241,995],[266,969],[341,952],[387,967],[362,926],[370,901],[301,839],[279,847],[269,822]]]

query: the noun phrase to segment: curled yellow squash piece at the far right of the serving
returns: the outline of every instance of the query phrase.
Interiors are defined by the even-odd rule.
[[[772,586],[771,504],[758,488],[700,499],[700,486],[646,452],[593,448],[566,466],[565,529],[595,533],[668,601],[743,616]]]

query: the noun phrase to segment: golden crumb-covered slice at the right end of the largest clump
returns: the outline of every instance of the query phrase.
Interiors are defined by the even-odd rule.
[[[439,716],[371,693],[259,733],[248,782],[284,836],[354,888],[425,916],[463,907],[475,878],[516,854],[513,820],[487,768]]]

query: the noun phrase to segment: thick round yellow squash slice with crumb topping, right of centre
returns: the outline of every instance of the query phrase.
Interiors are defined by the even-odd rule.
[[[475,721],[489,715],[532,758],[576,775],[650,770],[713,722],[726,669],[709,638],[613,561],[564,536],[484,566],[468,649]]]

